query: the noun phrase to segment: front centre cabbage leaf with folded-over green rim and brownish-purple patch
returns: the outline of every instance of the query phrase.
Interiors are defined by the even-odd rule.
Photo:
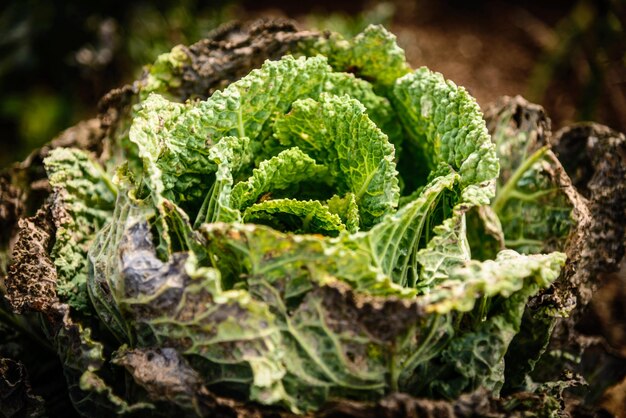
[[[285,390],[299,409],[317,409],[335,396],[380,396],[389,384],[388,353],[422,319],[413,292],[394,285],[368,265],[367,253],[341,239],[253,225],[202,229],[216,262],[242,269],[232,274],[247,277],[250,294],[275,315]]]

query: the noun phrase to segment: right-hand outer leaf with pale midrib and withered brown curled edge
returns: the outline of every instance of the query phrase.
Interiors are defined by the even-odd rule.
[[[556,249],[567,252],[569,257],[566,270],[553,288],[536,297],[532,301],[532,309],[526,310],[521,331],[507,352],[505,389],[521,390],[531,384],[528,376],[537,362],[542,361],[544,352],[558,351],[547,348],[557,323],[574,321],[571,317],[567,320],[562,317],[570,316],[574,306],[584,305],[583,300],[589,296],[583,295],[591,295],[585,285],[586,280],[573,275],[593,275],[590,272],[594,269],[581,267],[581,260],[586,258],[594,260],[592,264],[601,263],[598,260],[602,257],[597,254],[602,252],[599,250],[602,246],[587,236],[593,224],[593,211],[588,202],[578,195],[561,163],[546,147],[550,137],[550,120],[543,108],[519,96],[504,97],[487,111],[486,119],[502,165],[493,209],[503,220],[506,245],[520,252]],[[578,137],[576,140],[585,144],[585,141],[578,142]],[[599,143],[595,134],[593,143]],[[576,147],[568,147],[568,150],[573,150],[576,158],[585,154]],[[584,167],[580,161],[576,162],[576,167],[582,170],[577,172],[585,170],[580,168]],[[605,184],[604,171],[600,177]],[[601,202],[604,207],[604,195]],[[517,216],[513,217],[514,213]],[[605,222],[602,221],[603,226],[599,230],[606,230]],[[601,241],[604,242],[604,238]],[[593,247],[593,250],[585,251],[585,246]],[[595,255],[590,256],[592,253]],[[544,357],[550,365],[558,363],[550,356]],[[547,369],[541,367],[538,372]]]

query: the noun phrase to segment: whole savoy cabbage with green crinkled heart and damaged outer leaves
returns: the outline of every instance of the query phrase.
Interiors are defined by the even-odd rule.
[[[507,132],[511,115],[492,137],[475,99],[412,70],[383,27],[283,45],[204,97],[176,47],[98,158],[45,158],[49,215],[32,222],[54,285],[28,291],[49,301],[80,412],[497,397],[567,313],[542,312],[533,349],[516,338],[585,216],[547,144]],[[8,294],[32,308],[15,251]]]

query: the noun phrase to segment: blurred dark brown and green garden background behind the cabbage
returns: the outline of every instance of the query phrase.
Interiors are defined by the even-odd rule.
[[[0,5],[0,168],[95,116],[102,95],[159,53],[259,17],[344,34],[382,23],[413,66],[442,72],[481,105],[522,94],[555,128],[596,120],[626,131],[625,0],[15,0]]]

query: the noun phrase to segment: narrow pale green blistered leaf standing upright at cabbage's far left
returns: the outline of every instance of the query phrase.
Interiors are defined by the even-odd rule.
[[[117,188],[84,151],[57,148],[44,161],[54,188],[56,235],[51,257],[57,294],[87,311],[87,251],[96,231],[111,217]]]

